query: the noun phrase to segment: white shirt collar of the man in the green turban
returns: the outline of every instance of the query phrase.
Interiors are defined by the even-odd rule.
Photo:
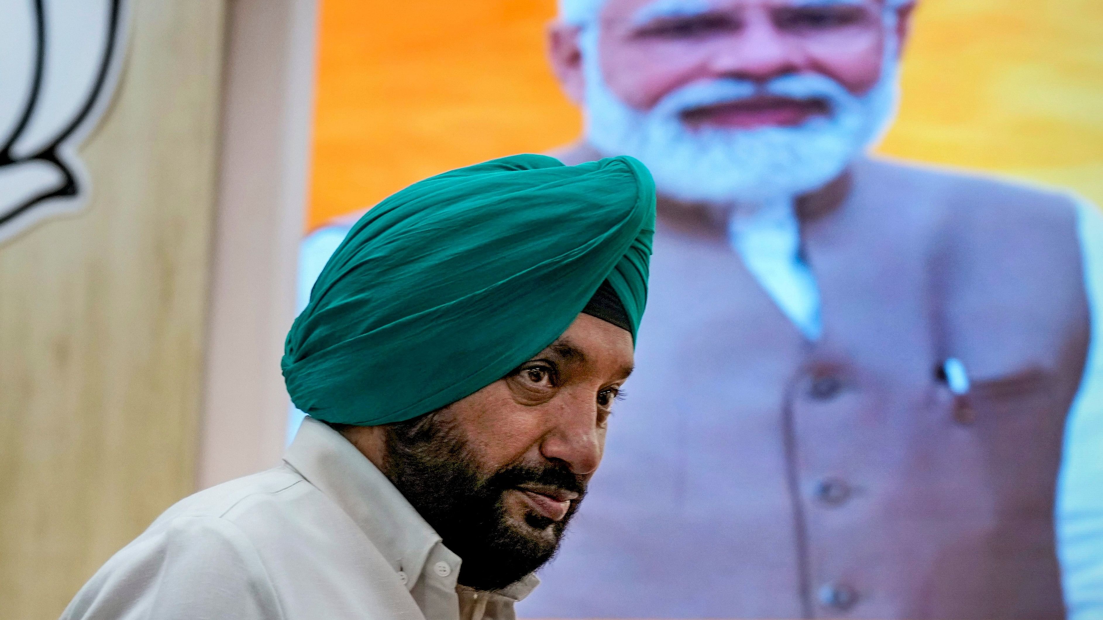
[[[328,424],[307,417],[283,460],[338,504],[390,563],[407,576],[407,589],[420,577],[433,547],[440,545],[452,566],[460,557],[418,514],[375,464]],[[518,601],[539,579],[528,575],[494,594]]]

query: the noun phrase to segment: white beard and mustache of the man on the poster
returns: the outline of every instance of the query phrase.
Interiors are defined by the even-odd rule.
[[[880,79],[863,95],[847,92],[826,75],[784,75],[764,85],[729,77],[686,84],[650,110],[638,110],[606,83],[597,38],[598,30],[591,28],[579,39],[587,140],[602,153],[635,157],[651,170],[658,191],[678,200],[763,203],[820,189],[876,145],[896,116],[895,41],[885,46]],[[829,114],[796,127],[760,129],[692,130],[683,122],[687,110],[761,94],[822,99]]]

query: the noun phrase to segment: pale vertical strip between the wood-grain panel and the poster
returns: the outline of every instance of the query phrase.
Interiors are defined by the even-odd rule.
[[[270,468],[283,452],[280,357],[295,319],[317,12],[314,0],[231,4],[201,488]]]

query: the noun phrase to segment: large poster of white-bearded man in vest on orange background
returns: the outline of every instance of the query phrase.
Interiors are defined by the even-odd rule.
[[[636,370],[611,421],[620,432],[610,434],[588,510],[518,614],[1103,613],[1103,366],[1091,353],[1103,333],[1099,211],[1060,188],[874,153],[898,126],[952,151],[908,152],[929,161],[979,167],[966,154],[1014,143],[1026,153],[1016,162],[1060,152],[1078,170],[1097,170],[1103,160],[1083,154],[1088,147],[1052,138],[1067,118],[1039,104],[1094,109],[1103,93],[1086,70],[1074,72],[1100,66],[1091,35],[1070,38],[1078,23],[1053,26],[1082,20],[1068,13],[1086,4],[556,4],[543,43],[581,113],[581,135],[548,153],[567,164],[639,159],[655,180],[657,224]],[[456,11],[451,20],[467,20],[457,43],[417,55],[413,42],[422,39],[401,35],[352,53],[342,32],[364,13],[334,9],[342,26],[322,36],[322,66],[334,71],[320,81],[329,107],[320,106],[317,141],[328,169],[314,185],[330,211],[312,211],[325,225],[302,244],[303,300],[349,231],[330,217],[368,202],[354,203],[373,188],[361,169],[383,178],[440,165],[459,157],[456,136],[467,136],[459,143],[470,152],[494,140],[532,148],[507,141],[518,135],[542,149],[569,139],[546,127],[572,131],[575,117],[550,93],[546,105],[534,103],[528,93],[544,83],[514,61],[539,49],[535,22],[547,13],[492,6]],[[920,20],[925,44],[912,51],[917,10],[938,18]],[[381,17],[386,25],[372,41],[414,17]],[[483,31],[472,36],[476,25]],[[375,26],[361,28],[367,40],[363,30]],[[522,32],[531,47],[515,43]],[[952,45],[963,32],[976,40],[963,43],[962,66],[932,68],[945,56],[931,41]],[[436,44],[449,29],[432,36]],[[1015,43],[995,45],[1000,38]],[[496,64],[494,54],[508,60]],[[1061,54],[1075,61],[1062,64]],[[390,57],[378,63],[385,68],[366,64]],[[910,67],[927,63],[918,94],[901,90],[903,57],[918,58]],[[1068,82],[1022,77],[1037,78],[1039,66]],[[962,86],[971,77],[977,84]],[[371,97],[350,103],[350,83]],[[1043,87],[1059,83],[1070,90]],[[1073,99],[1089,90],[1091,103]],[[901,100],[908,124],[897,118]],[[938,117],[942,108],[973,122],[954,125]],[[518,120],[538,113],[543,125]],[[917,122],[923,115],[936,118]],[[1067,126],[1075,145],[1097,122]],[[995,136],[1005,127],[1045,136]],[[1046,178],[1021,164],[987,169]],[[1091,183],[1078,189],[1091,192]]]

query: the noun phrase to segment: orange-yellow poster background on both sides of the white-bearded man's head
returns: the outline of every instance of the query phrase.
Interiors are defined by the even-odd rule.
[[[572,140],[554,0],[322,0],[308,229],[430,174]],[[921,0],[880,152],[1103,203],[1103,2]]]

